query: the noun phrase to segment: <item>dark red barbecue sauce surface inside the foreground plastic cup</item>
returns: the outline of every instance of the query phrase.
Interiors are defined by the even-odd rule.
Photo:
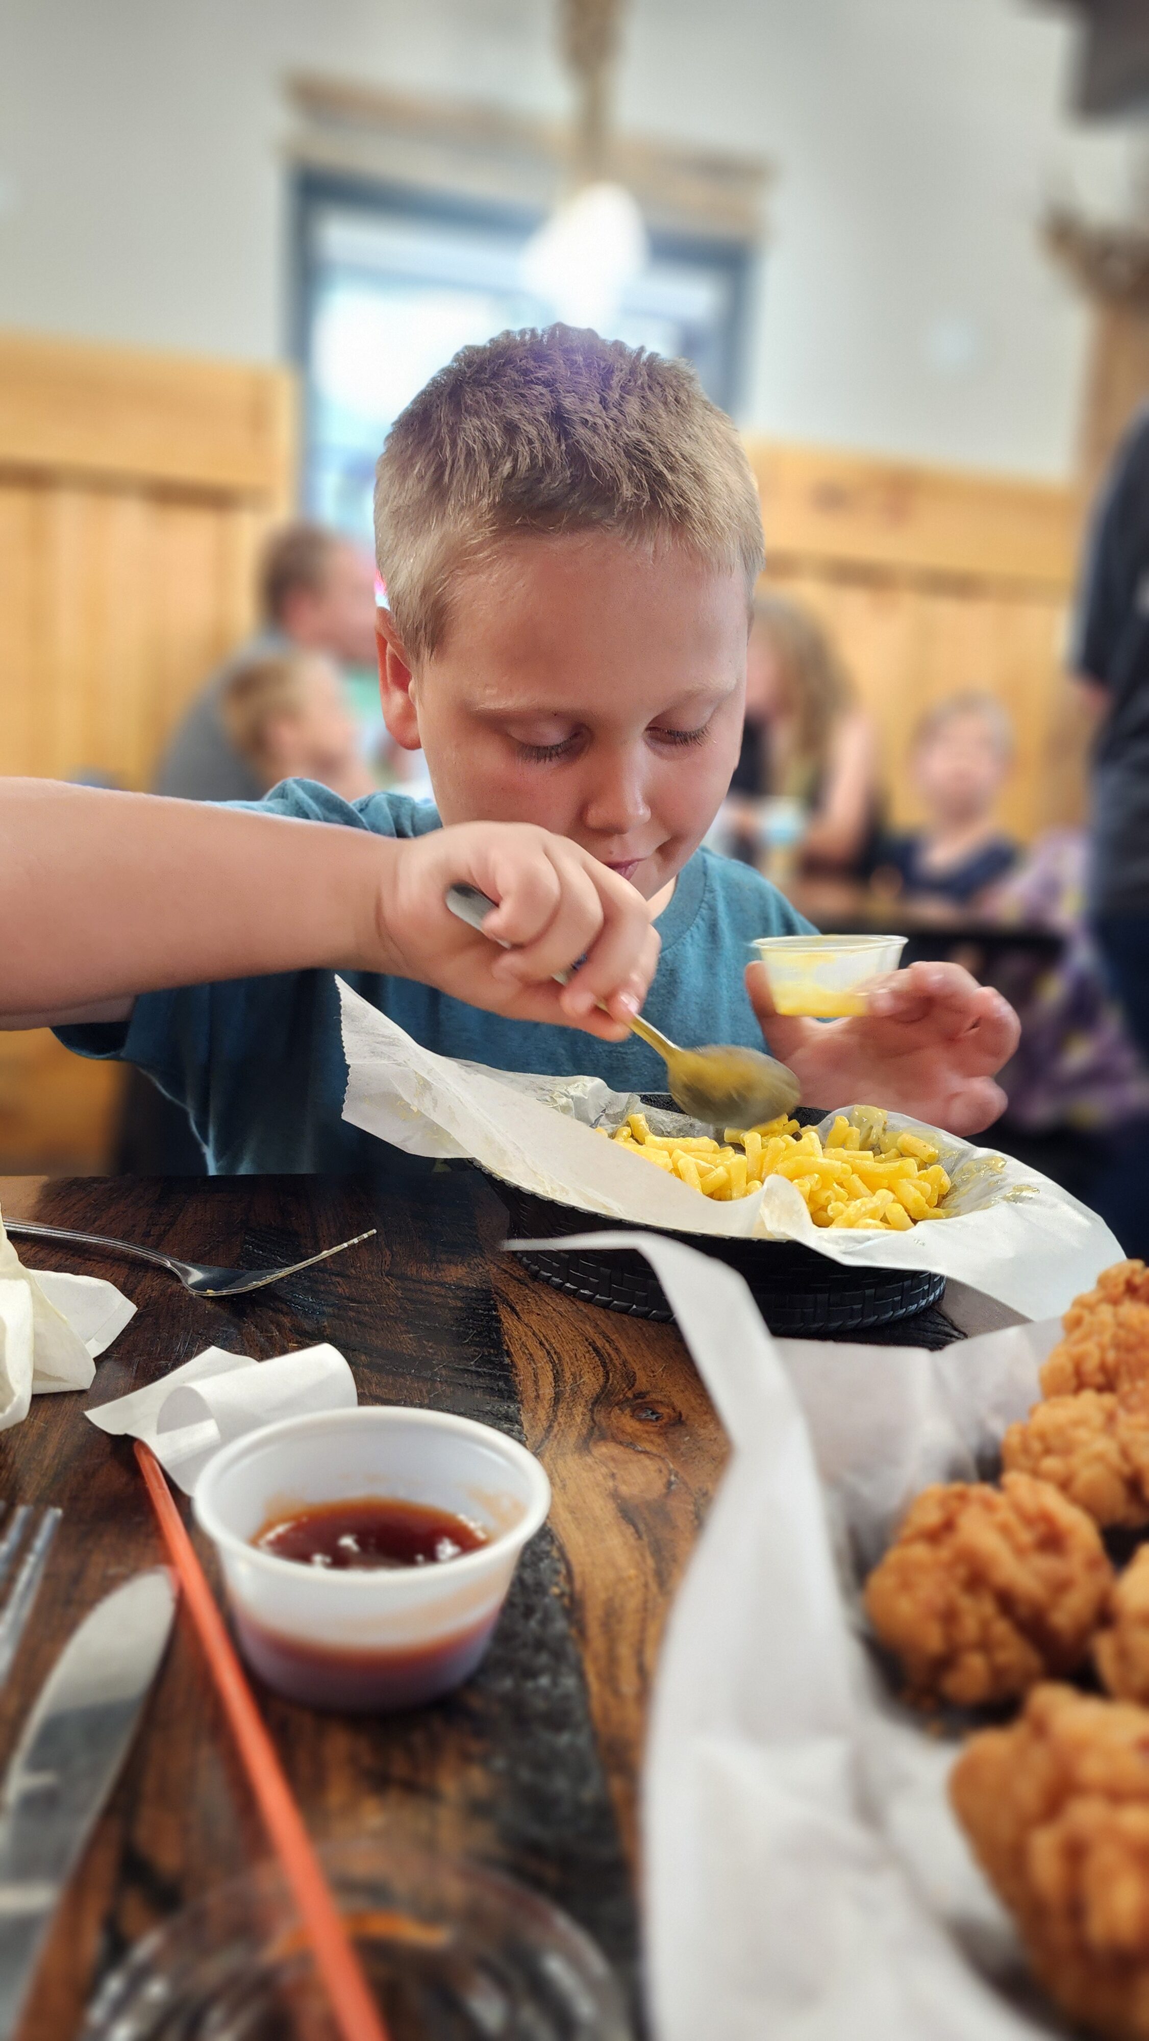
[[[486,1545],[486,1531],[396,1496],[353,1496],[349,1502],[316,1502],[273,1516],[255,1533],[253,1545],[278,1559],[337,1572],[373,1572],[400,1565],[443,1565]]]

